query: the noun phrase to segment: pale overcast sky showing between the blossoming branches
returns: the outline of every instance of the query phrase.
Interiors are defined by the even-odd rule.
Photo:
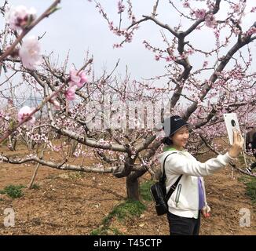
[[[0,2],[4,2],[0,0]],[[26,5],[27,7],[35,7],[38,16],[53,2],[53,0],[9,0],[9,5]],[[101,5],[104,7],[110,20],[114,20],[115,25],[119,24],[119,15],[117,14],[116,0],[101,0]],[[126,2],[126,1],[124,1]],[[180,1],[173,1],[179,6]],[[248,5],[252,5],[254,0],[247,1]],[[149,15],[152,13],[153,0],[133,1],[133,9],[140,18],[143,14]],[[196,5],[202,8],[203,2],[198,1]],[[221,5],[223,10],[218,13],[218,17],[226,11],[225,1]],[[179,23],[177,13],[171,9],[168,1],[159,1],[158,18],[163,23],[170,24],[174,27]],[[125,18],[123,18],[125,20]],[[254,23],[254,15],[247,15],[243,21],[243,27],[246,29]],[[124,27],[126,27],[124,22]],[[0,24],[1,25],[1,24]],[[188,24],[185,23],[185,27]],[[144,78],[152,78],[157,75],[163,75],[166,71],[164,60],[156,61],[155,54],[144,48],[143,41],[147,40],[155,47],[166,49],[166,44],[163,43],[163,38],[160,35],[160,28],[152,22],[146,22],[141,25],[141,28],[136,32],[133,42],[126,43],[122,49],[113,49],[113,44],[120,42],[120,38],[113,35],[108,30],[106,20],[98,13],[94,2],[88,0],[62,0],[60,9],[42,20],[29,35],[41,36],[46,32],[40,40],[42,53],[48,55],[54,52],[53,58],[59,63],[63,63],[65,57],[69,53],[69,66],[75,64],[79,68],[84,64],[84,58],[87,50],[90,55],[93,55],[93,66],[96,75],[101,75],[106,69],[112,71],[116,62],[120,59],[119,67],[115,73],[117,75],[125,75],[126,66],[130,72],[131,78],[141,80]],[[167,35],[168,37],[168,35]],[[172,37],[168,37],[172,38]],[[195,35],[188,38],[199,46],[200,49],[208,49],[209,43],[214,38],[212,32],[204,31],[204,35],[196,32]],[[252,47],[254,55],[255,43]],[[203,58],[191,56],[193,65],[201,65]],[[1,77],[2,78],[2,77]],[[2,80],[2,79],[1,79]],[[159,83],[159,85],[163,85]]]

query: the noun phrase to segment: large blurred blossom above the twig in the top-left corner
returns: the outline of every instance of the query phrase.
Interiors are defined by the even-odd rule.
[[[6,23],[15,31],[24,29],[35,20],[35,13],[36,10],[33,7],[27,9],[24,5],[18,5],[5,14]]]

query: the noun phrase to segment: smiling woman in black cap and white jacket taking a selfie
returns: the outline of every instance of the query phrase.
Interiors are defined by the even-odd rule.
[[[166,133],[163,143],[166,147],[159,155],[159,162],[163,170],[166,159],[166,191],[181,176],[168,201],[170,235],[199,235],[200,212],[204,216],[210,212],[202,176],[210,175],[234,160],[242,150],[243,137],[234,132],[234,144],[229,152],[201,163],[185,151],[189,136],[187,122],[176,115],[166,118],[163,126]]]

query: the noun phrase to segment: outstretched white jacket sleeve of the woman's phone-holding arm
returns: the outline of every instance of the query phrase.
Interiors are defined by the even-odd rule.
[[[188,158],[185,155],[177,153],[170,155],[166,159],[166,166],[168,166],[168,173],[170,174],[185,174],[192,176],[207,176],[213,174],[226,166],[229,161],[233,160],[229,153],[225,155],[218,155],[217,158],[210,158],[207,162],[199,162],[196,158]]]

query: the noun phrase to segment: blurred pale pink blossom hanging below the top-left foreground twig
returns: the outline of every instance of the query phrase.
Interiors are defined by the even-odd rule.
[[[35,36],[24,40],[19,51],[23,66],[35,70],[35,67],[42,63],[42,56],[39,53],[40,44]]]

